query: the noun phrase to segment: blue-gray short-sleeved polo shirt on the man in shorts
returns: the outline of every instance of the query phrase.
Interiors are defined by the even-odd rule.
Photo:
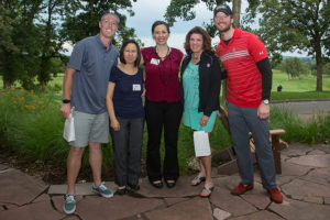
[[[68,66],[76,69],[73,79],[72,106],[76,111],[99,114],[107,111],[106,95],[111,68],[117,66],[118,50],[101,42],[99,35],[79,41]]]

